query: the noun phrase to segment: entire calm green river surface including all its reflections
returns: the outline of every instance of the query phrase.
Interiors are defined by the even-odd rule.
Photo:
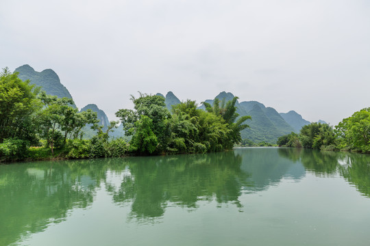
[[[370,245],[370,156],[282,148],[0,165],[0,245]]]

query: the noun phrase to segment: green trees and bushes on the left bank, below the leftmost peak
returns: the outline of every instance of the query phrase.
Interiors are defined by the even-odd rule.
[[[40,92],[6,68],[0,74],[0,161],[123,156],[125,140],[108,141],[118,122],[98,122],[96,112],[78,112],[71,98]],[[86,124],[96,132],[91,141],[82,140]]]

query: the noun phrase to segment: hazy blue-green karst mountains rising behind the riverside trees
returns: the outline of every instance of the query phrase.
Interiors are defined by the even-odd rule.
[[[69,91],[60,83],[58,74],[51,69],[43,70],[42,72],[36,72],[34,68],[29,65],[23,65],[16,68],[14,72],[18,72],[18,77],[23,81],[29,79],[32,84],[42,87],[47,94],[72,98]],[[168,92],[166,96],[158,93],[158,96],[165,98],[164,102],[167,109],[171,111],[172,105],[177,105],[181,101],[179,98],[173,94],[173,92]],[[232,100],[234,95],[230,92],[221,92],[215,98],[219,100]],[[205,102],[212,105],[214,99],[205,100]],[[246,124],[250,127],[246,128],[241,132],[242,139],[250,139],[254,142],[267,141],[269,143],[275,143],[277,138],[286,135],[291,132],[299,133],[302,126],[310,124],[308,120],[304,120],[299,113],[295,111],[289,111],[288,113],[278,113],[273,107],[265,107],[261,102],[257,101],[243,101],[236,102],[236,112],[240,115],[251,115],[251,120],[247,120]],[[100,121],[103,130],[106,130],[109,125],[109,120],[103,110],[99,109],[97,105],[89,104],[81,109],[81,111],[86,111],[91,109],[97,112],[97,117]],[[199,109],[206,109],[204,105],[200,105]],[[325,123],[323,120],[319,122]],[[86,127],[86,135],[90,137],[94,133],[91,132],[90,128]],[[122,124],[118,129],[111,133],[111,136],[120,137],[123,136],[123,126]]]

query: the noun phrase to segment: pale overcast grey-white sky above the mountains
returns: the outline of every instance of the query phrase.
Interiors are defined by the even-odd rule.
[[[0,68],[53,69],[79,109],[219,92],[332,125],[370,107],[369,0],[1,0]]]

